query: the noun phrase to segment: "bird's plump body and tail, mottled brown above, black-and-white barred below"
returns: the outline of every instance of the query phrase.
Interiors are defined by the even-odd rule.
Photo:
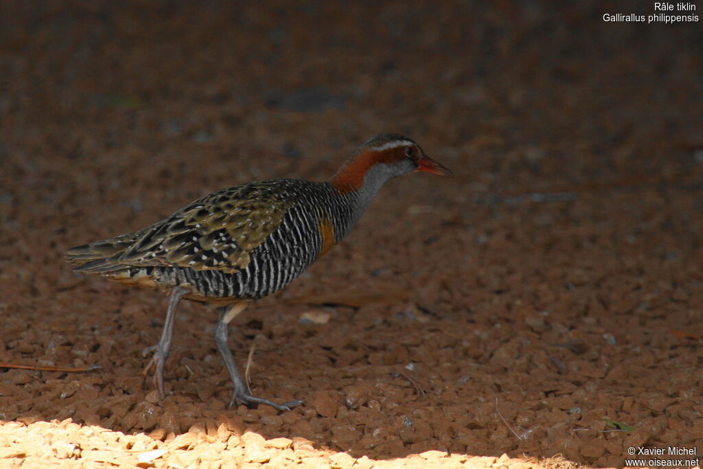
[[[276,179],[224,189],[135,233],[67,252],[77,271],[122,283],[253,298],[288,285],[352,224],[328,183]]]

